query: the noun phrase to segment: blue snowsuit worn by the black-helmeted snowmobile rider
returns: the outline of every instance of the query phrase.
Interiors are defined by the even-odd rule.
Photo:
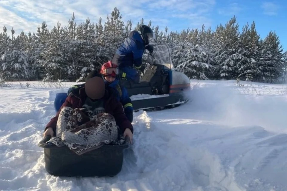
[[[137,70],[133,68],[133,65],[135,65],[136,69],[141,68],[144,50],[145,45],[141,35],[137,31],[132,31],[117,49],[112,60],[113,63],[119,65],[119,69],[122,72],[121,78],[135,82],[140,80],[140,76]]]

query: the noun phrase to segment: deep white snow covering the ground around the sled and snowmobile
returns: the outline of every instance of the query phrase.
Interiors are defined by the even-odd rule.
[[[191,102],[134,114],[112,178],[59,178],[38,147],[54,98],[75,83],[0,88],[0,190],[287,190],[287,85],[191,81]]]

